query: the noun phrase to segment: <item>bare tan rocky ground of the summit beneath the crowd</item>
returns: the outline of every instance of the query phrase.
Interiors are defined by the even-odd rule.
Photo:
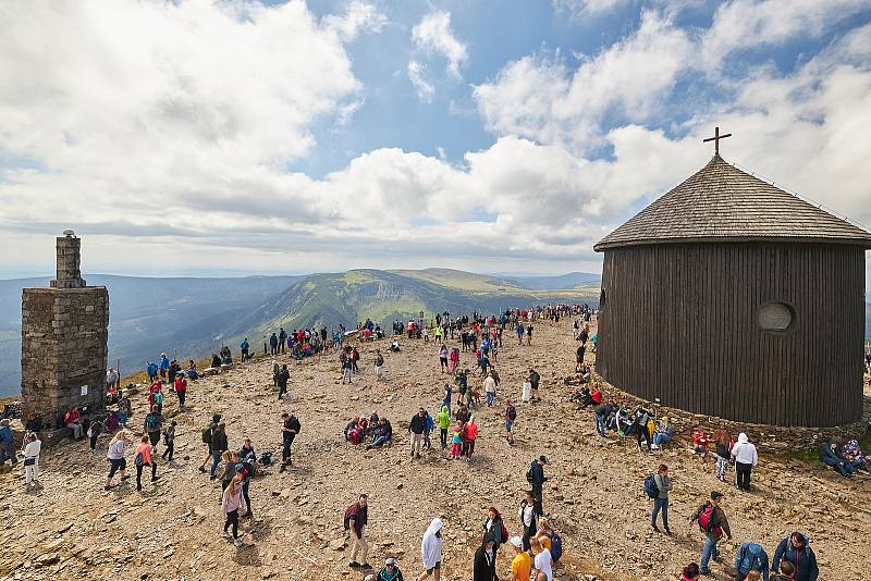
[[[680,567],[698,560],[701,547],[689,515],[714,489],[726,493],[723,506],[735,535],[735,542],[721,544],[725,559],[712,564],[714,579],[734,578],[729,563],[740,542],[759,542],[773,555],[793,529],[810,535],[820,579],[862,579],[871,568],[868,477],[845,480],[818,465],[763,457],[755,473],[757,490],[743,493],[720,484],[713,460],[692,456],[686,444],[647,455],[634,443],[598,437],[591,413],[567,403],[574,387],[562,382],[574,370],[568,322],[537,324],[531,347],[506,342],[498,362],[500,397],[496,407],[477,415],[481,434],[471,466],[450,461],[438,449],[425,452],[420,460],[409,458],[408,419],[421,405],[436,411],[446,376],[439,373],[437,345],[404,341],[402,354],[385,354],[385,381],[377,384],[369,366],[375,348],[384,350],[385,345],[363,347],[365,370],[351,386],[341,385],[332,356],[292,362],[292,404],[277,401],[269,361],[193,383],[187,410],[175,416],[176,462],[161,463],[162,478],[146,484],[142,494],[135,485],[103,491],[106,436],[95,455],[85,442],[45,450],[38,492],[25,491],[21,465],[0,474],[0,518],[5,522],[0,576],[358,580],[363,574],[347,568],[342,514],[358,493],[367,492],[372,565],[394,555],[406,579],[416,578],[420,536],[432,517],[441,516],[446,522],[443,578],[469,579],[487,507],[502,509],[512,534],[519,532],[516,510],[526,469],[540,454],[552,460],[545,469],[544,508],[556,516],[565,546],[557,578],[677,579]],[[462,362],[471,367],[466,354]],[[505,397],[519,395],[530,364],[542,375],[543,401],[518,406],[517,445],[511,447],[502,437]],[[146,398],[137,399],[134,425],[145,415]],[[174,396],[169,400],[172,413]],[[220,535],[220,484],[196,470],[205,454],[199,431],[213,411],[221,411],[231,447],[247,435],[258,450],[274,449],[280,457],[285,409],[303,424],[294,444],[295,467],[283,474],[265,470],[254,480],[255,518],[243,521],[245,544],[236,548]],[[342,429],[348,418],[372,410],[391,419],[394,445],[365,452],[345,444]],[[670,466],[674,483],[672,537],[648,526],[651,503],[641,484],[659,462]],[[501,577],[507,567],[501,554]]]

